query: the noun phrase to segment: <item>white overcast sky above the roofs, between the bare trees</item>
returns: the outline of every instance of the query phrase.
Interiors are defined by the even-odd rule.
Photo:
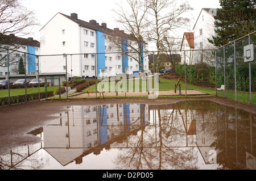
[[[23,0],[24,5],[28,10],[35,12],[40,26],[34,28],[34,33],[30,37],[34,37],[36,40],[40,40],[39,30],[42,28],[57,12],[61,12],[66,15],[70,15],[75,12],[78,14],[78,18],[89,22],[94,19],[98,23],[105,22],[108,28],[114,29],[118,27],[114,22],[113,9],[117,9],[116,2],[121,0]],[[180,2],[181,0],[177,0]],[[219,8],[220,3],[218,0],[191,0],[189,1],[191,7],[193,7],[191,26],[195,23],[197,16],[202,8]]]

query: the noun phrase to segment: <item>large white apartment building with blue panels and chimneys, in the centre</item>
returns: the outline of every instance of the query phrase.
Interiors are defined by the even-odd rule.
[[[108,36],[117,31],[120,30],[111,30],[106,23],[100,25],[96,20],[80,20],[75,13],[68,16],[58,12],[40,30],[42,73],[64,73],[67,68],[69,78],[86,78],[139,71],[141,68],[137,61],[117,53],[120,50],[112,47]],[[143,51],[146,50],[144,48]],[[143,66],[148,69],[147,57],[143,60]]]

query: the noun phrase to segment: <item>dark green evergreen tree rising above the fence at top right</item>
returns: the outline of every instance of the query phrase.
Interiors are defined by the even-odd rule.
[[[217,36],[208,39],[216,47],[221,47],[256,31],[256,0],[220,0],[214,23]]]

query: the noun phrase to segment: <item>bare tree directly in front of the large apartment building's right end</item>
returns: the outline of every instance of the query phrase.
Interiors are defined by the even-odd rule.
[[[144,37],[147,37],[149,25],[148,6],[143,0],[126,0],[125,5],[118,4],[118,7],[118,10],[114,10],[117,14],[115,20],[121,25],[123,31],[115,31],[112,36],[109,36],[110,41],[115,47],[122,49],[122,52],[133,52],[127,53],[127,56],[134,58],[143,72],[143,59],[146,56],[144,51],[147,45]]]

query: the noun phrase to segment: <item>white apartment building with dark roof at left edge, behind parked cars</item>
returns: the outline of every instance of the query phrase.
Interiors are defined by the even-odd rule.
[[[0,77],[8,75],[7,49],[9,49],[9,74],[18,74],[20,57],[26,63],[26,74],[37,74],[40,43],[32,37],[22,38],[11,34],[0,39]],[[24,64],[25,65],[25,64]],[[40,65],[39,65],[40,68]]]

